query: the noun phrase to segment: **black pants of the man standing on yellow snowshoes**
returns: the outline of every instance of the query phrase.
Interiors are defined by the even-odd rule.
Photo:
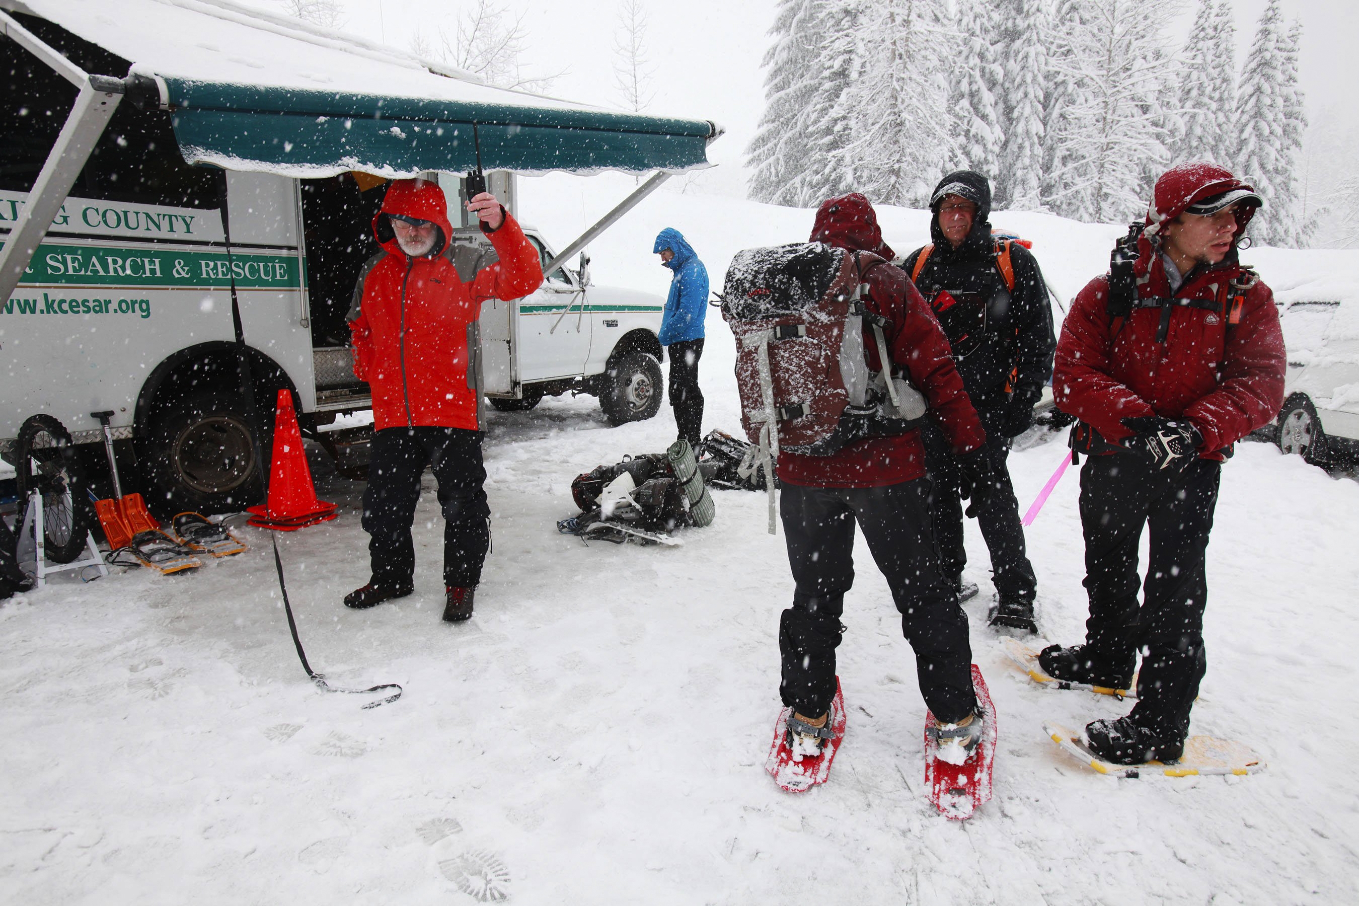
[[[1142,649],[1132,719],[1163,740],[1189,732],[1207,670],[1204,557],[1220,477],[1218,462],[1199,459],[1180,473],[1157,470],[1131,452],[1090,456],[1080,470],[1086,642],[1110,664],[1131,664]],[[1146,583],[1137,575],[1143,526],[1151,531]]]

